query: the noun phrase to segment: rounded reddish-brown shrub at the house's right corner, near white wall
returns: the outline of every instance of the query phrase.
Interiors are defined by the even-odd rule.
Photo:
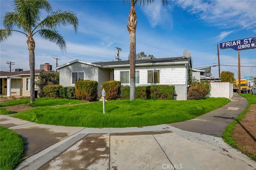
[[[188,89],[188,100],[201,100],[204,99],[207,94],[207,88],[205,86],[191,86]]]

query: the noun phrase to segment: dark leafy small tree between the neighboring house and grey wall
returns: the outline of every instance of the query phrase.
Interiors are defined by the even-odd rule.
[[[56,85],[60,82],[60,75],[57,72],[41,73],[37,77],[36,86],[39,88],[39,97],[45,97],[43,88],[48,85]]]

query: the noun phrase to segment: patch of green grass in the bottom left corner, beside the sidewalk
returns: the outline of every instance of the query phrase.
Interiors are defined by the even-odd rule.
[[[20,161],[25,143],[16,132],[0,126],[0,167],[12,170]]]

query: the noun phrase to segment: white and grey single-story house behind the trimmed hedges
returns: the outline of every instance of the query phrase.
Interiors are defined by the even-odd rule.
[[[74,86],[77,80],[95,80],[98,90],[108,80],[121,81],[122,86],[130,85],[130,62],[110,61],[88,63],[74,60],[58,66],[60,85]],[[191,58],[173,57],[162,59],[136,60],[136,86],[174,85],[176,100],[186,100],[188,92],[188,70]]]

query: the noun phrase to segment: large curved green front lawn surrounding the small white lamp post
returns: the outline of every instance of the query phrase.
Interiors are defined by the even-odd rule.
[[[54,99],[54,102],[59,99]],[[79,127],[139,127],[174,123],[208,113],[229,102],[226,98],[204,100],[112,100],[76,106],[38,107],[16,118],[50,125]]]

